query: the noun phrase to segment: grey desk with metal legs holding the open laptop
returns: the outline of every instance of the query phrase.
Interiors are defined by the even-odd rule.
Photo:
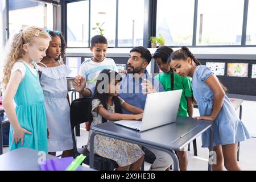
[[[195,118],[177,117],[176,122],[168,125],[156,127],[155,129],[139,132],[127,127],[119,126],[114,122],[101,123],[91,126],[95,130],[90,137],[90,151],[94,150],[95,135],[124,140],[136,143],[140,146],[152,147],[157,150],[167,152],[174,159],[174,170],[178,170],[178,160],[173,150],[181,150],[198,137],[205,130],[210,129],[211,137],[209,151],[213,151],[213,123],[209,121],[199,121]],[[212,152],[209,153],[208,170],[212,170]],[[93,152],[90,152],[90,168],[93,168]]]

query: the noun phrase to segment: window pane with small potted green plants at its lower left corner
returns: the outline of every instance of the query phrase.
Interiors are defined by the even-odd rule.
[[[167,46],[192,45],[195,2],[158,0],[156,36],[162,34]]]

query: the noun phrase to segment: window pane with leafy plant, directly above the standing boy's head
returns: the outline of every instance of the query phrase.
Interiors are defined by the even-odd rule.
[[[115,47],[115,10],[116,0],[93,0],[90,2],[90,35],[99,35],[100,30],[103,29],[102,34],[108,39],[108,47]],[[97,26],[96,23],[99,23]],[[93,28],[96,28],[93,30]]]

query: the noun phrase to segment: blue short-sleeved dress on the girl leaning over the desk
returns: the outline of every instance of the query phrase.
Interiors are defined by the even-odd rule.
[[[193,96],[197,101],[201,116],[212,114],[214,95],[205,83],[205,80],[212,75],[213,72],[204,65],[197,66],[193,73]],[[234,106],[226,95],[220,113],[218,113],[217,118],[213,122],[213,146],[233,144],[250,138],[246,127],[241,122]],[[203,147],[209,147],[209,138],[210,131],[208,129],[202,134]]]

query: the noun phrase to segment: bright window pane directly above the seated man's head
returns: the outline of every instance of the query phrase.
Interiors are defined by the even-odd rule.
[[[118,47],[143,46],[144,0],[119,0]]]

